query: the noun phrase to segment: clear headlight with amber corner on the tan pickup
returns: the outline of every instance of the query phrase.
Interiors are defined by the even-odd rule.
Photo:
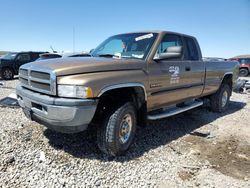
[[[93,97],[92,89],[84,86],[58,85],[57,91],[60,97],[70,97],[70,98]]]

